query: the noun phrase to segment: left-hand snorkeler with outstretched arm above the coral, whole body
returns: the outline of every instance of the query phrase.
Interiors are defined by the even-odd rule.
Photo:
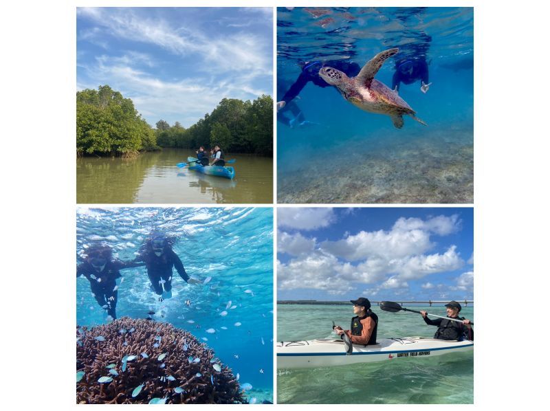
[[[108,245],[93,245],[86,250],[85,260],[76,267],[76,277],[85,276],[90,282],[92,296],[113,320],[116,318],[120,270],[140,267],[143,263],[113,259],[113,249]]]

